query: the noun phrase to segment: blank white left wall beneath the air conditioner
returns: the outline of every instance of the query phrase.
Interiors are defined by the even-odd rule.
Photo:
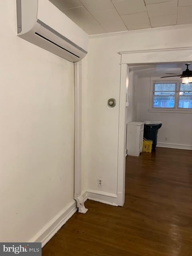
[[[12,30],[0,1],[0,241],[28,241],[74,202],[74,65]]]

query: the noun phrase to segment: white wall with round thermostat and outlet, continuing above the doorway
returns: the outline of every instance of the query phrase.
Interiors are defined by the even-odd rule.
[[[118,119],[120,95],[120,51],[191,46],[189,28],[148,29],[124,35],[91,38],[87,58],[88,76],[84,94],[86,130],[84,176],[87,188],[117,193]],[[185,37],[181,36],[185,34]],[[108,108],[109,98],[116,107]],[[103,178],[103,186],[97,179]]]

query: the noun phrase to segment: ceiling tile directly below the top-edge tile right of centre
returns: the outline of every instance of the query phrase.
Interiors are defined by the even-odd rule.
[[[150,20],[147,12],[122,15],[121,18],[123,19],[127,28],[130,25],[136,25],[136,24],[142,24],[142,23],[150,24]]]

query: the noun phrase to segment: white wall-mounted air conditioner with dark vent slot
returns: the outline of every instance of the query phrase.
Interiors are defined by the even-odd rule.
[[[87,54],[88,35],[49,0],[17,0],[17,35],[71,62]]]

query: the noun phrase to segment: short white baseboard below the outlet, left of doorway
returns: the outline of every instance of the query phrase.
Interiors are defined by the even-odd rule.
[[[97,201],[103,204],[118,206],[116,194],[99,191],[99,190],[87,189],[86,192],[84,191],[83,197],[85,201],[89,199],[89,200]]]

